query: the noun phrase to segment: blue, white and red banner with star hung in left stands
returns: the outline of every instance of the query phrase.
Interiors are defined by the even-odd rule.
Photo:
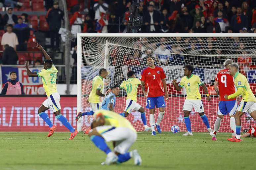
[[[37,72],[42,68],[30,68],[31,72]],[[40,77],[28,77],[24,67],[1,67],[2,71],[2,88],[4,84],[10,80],[10,73],[15,71],[17,73],[17,80],[23,85],[23,90],[26,95],[43,95],[42,79]]]

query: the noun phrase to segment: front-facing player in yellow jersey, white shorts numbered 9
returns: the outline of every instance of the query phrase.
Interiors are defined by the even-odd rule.
[[[194,71],[193,66],[191,65],[186,65],[183,67],[184,75],[181,79],[180,84],[177,84],[177,80],[174,79],[172,83],[174,84],[174,87],[176,88],[177,91],[181,91],[181,89],[185,86],[186,92],[187,92],[187,97],[183,105],[183,111],[184,111],[184,120],[185,124],[187,127],[188,132],[183,134],[183,136],[189,136],[193,135],[191,131],[191,122],[190,122],[190,112],[194,108],[196,112],[200,115],[200,117],[203,120],[203,123],[207,127],[207,130],[212,133],[212,129],[209,125],[209,121],[207,116],[204,114],[204,108],[203,108],[203,103],[201,100],[201,94],[199,92],[199,86],[202,86],[205,93],[206,93],[206,100],[210,101],[210,95],[208,94],[207,87],[201,80],[201,78],[197,75],[192,74]]]

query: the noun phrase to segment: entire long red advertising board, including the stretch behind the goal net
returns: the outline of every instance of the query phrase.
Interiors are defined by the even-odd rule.
[[[43,103],[46,97],[0,97],[0,131],[49,131],[48,125],[43,119],[38,116],[38,108]],[[178,125],[182,131],[186,131],[184,116],[182,111],[182,105],[184,97],[171,97],[166,100],[167,108],[165,110],[164,118],[161,122],[163,131],[170,131],[171,126]],[[180,100],[181,102],[173,102]],[[212,97],[210,102],[206,102],[203,98],[204,108],[206,115],[209,119],[210,126],[213,127],[217,117],[217,97]],[[123,112],[125,103],[125,97],[118,97],[116,101],[115,111],[117,113]],[[138,103],[145,108],[145,98],[138,97]],[[212,105],[216,107],[212,107]],[[90,110],[90,107],[86,107],[85,110]],[[46,113],[54,125],[57,126],[57,131],[68,131],[64,125],[56,119],[52,111],[47,110]],[[61,97],[61,113],[67,118],[69,123],[76,128],[75,116],[77,114],[76,109],[76,97]],[[157,119],[158,111],[156,111],[155,118]],[[254,126],[255,122],[251,117],[246,119],[249,115],[242,116],[243,128]],[[147,123],[149,125],[149,110],[146,110]],[[127,119],[132,123],[137,131],[144,130],[144,126],[141,120],[141,114],[133,111]],[[192,123],[192,131],[206,131],[200,116],[191,112],[190,119]],[[83,130],[86,130],[91,122],[92,116],[83,117]],[[222,121],[222,127],[229,127],[229,117],[226,116]],[[230,129],[220,129],[220,131],[230,131]]]

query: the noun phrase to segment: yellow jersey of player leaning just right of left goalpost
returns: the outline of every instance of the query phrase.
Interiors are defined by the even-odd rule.
[[[101,102],[101,97],[96,95],[96,91],[101,90],[102,93],[102,89],[103,89],[103,78],[98,75],[96,77],[93,78],[92,81],[92,91],[89,95],[89,102],[90,103],[100,103]]]

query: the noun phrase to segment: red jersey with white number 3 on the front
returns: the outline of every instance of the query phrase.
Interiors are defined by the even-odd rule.
[[[141,72],[141,81],[145,82],[145,90],[148,97],[164,96],[162,79],[166,78],[161,67],[155,66],[154,69],[149,67]]]

